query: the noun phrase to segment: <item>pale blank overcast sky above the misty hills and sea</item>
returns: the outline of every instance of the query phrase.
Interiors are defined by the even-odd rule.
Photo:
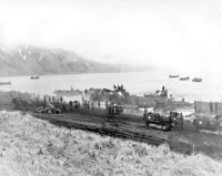
[[[221,0],[0,0],[0,44],[87,59],[221,70]]]

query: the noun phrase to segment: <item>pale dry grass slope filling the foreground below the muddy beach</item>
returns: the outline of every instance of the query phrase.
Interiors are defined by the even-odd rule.
[[[0,137],[1,176],[222,175],[222,162],[201,154],[60,128],[19,112],[0,112]]]

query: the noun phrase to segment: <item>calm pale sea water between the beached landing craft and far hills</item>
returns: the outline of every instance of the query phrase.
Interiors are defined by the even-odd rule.
[[[191,76],[189,81],[170,79],[170,74]],[[193,77],[202,77],[201,83],[192,82]],[[113,89],[113,84],[123,84],[131,94],[143,95],[154,93],[164,85],[175,100],[185,101],[222,101],[222,77],[212,73],[185,73],[185,72],[133,72],[133,73],[100,73],[100,74],[65,74],[65,75],[40,75],[39,80],[30,76],[1,76],[0,82],[11,81],[11,85],[0,85],[2,91],[21,91],[36,94],[53,95],[54,90],[79,89],[81,91],[90,87]],[[73,99],[74,100],[74,99]]]

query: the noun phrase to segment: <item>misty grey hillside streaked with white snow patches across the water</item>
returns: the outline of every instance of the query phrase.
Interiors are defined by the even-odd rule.
[[[121,66],[93,62],[71,51],[18,46],[0,48],[0,75],[104,73],[123,71]]]

